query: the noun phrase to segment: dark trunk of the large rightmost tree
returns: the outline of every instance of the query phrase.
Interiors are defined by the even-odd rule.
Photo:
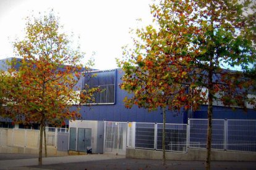
[[[211,169],[211,133],[212,133],[212,116],[213,116],[213,71],[208,75],[208,126],[207,126],[207,158],[205,169]]]

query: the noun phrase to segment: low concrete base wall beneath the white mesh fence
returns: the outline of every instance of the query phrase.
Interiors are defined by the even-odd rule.
[[[126,149],[126,158],[161,160],[163,152],[156,150]],[[187,153],[166,152],[166,160],[205,161],[206,150],[188,148]],[[256,153],[211,151],[212,161],[256,161]]]

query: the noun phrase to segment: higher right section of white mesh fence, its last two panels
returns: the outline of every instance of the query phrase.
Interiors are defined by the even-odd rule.
[[[207,119],[189,119],[189,147],[206,148]],[[213,119],[211,148],[256,152],[256,120]]]

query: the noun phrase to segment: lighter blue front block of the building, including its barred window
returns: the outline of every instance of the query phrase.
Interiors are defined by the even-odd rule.
[[[120,68],[114,70],[92,71],[95,76],[85,75],[79,81],[79,87],[85,89],[86,84],[90,87],[100,87],[99,92],[94,95],[95,101],[82,105],[80,113],[82,119],[99,121],[124,121],[142,123],[162,123],[163,115],[160,109],[148,112],[145,108],[134,105],[132,108],[124,106],[123,99],[129,96],[126,91],[119,88],[122,75]],[[187,120],[187,111],[166,113],[167,123],[184,123]]]

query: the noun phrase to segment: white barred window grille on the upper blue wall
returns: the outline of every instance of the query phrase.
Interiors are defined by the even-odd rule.
[[[116,70],[90,71],[83,76],[82,89],[88,93],[89,89],[98,88],[93,92],[91,100],[83,100],[87,104],[114,104],[116,92]]]

